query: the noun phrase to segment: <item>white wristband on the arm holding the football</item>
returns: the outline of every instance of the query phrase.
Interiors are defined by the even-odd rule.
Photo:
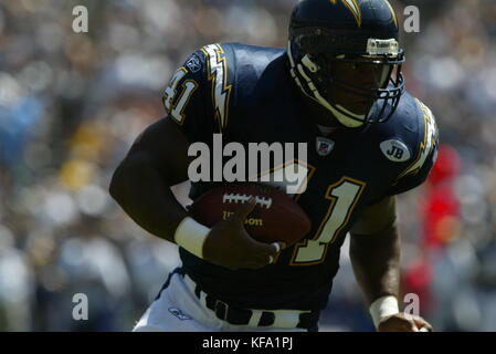
[[[203,258],[203,243],[210,229],[190,217],[186,217],[176,229],[176,243],[190,253]]]

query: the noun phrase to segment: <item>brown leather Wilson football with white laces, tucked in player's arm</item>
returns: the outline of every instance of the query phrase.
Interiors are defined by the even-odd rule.
[[[208,227],[228,219],[251,197],[256,206],[245,219],[246,232],[261,242],[287,247],[305,237],[312,223],[305,211],[283,191],[256,183],[229,184],[200,196],[190,208],[193,219]]]

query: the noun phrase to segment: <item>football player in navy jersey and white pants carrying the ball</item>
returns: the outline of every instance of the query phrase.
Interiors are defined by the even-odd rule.
[[[350,257],[378,331],[429,331],[401,311],[395,195],[421,185],[435,160],[431,111],[404,90],[399,24],[386,0],[304,0],[286,49],[240,43],[194,52],[165,91],[167,117],[116,169],[110,194],[144,229],[177,243],[171,272],[135,331],[317,331],[350,233]],[[188,180],[194,142],[304,142],[310,217],[300,242],[252,239],[241,205],[212,228],[170,187]],[[191,199],[211,188],[193,183]],[[282,220],[284,222],[284,220]]]

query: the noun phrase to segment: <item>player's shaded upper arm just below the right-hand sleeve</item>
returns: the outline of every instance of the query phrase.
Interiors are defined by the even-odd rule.
[[[379,235],[392,228],[398,220],[397,199],[386,197],[381,201],[366,207],[360,218],[350,229],[351,235]]]

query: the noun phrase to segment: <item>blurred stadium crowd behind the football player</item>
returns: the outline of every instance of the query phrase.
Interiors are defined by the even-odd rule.
[[[0,2],[0,331],[133,327],[178,256],[109,198],[113,171],[163,116],[162,90],[191,52],[284,46],[295,2]],[[496,2],[391,3],[401,22],[420,9],[404,72],[443,143],[430,180],[400,197],[402,291],[439,331],[496,331]],[[88,33],[72,31],[77,4]],[[323,331],[373,329],[347,247]],[[76,293],[88,321],[73,320]]]

